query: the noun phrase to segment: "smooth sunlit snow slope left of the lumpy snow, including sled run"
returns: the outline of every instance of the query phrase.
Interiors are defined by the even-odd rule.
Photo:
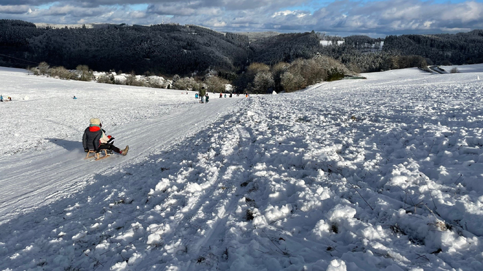
[[[14,97],[3,104],[0,132],[5,140],[0,214],[6,218],[40,201],[56,201],[90,175],[192,134],[206,121],[196,111],[201,107],[195,103],[195,92],[63,81],[12,71],[0,75],[3,88]],[[71,99],[73,95],[78,99]],[[223,112],[226,105],[217,102],[203,106],[204,114],[215,117]],[[121,149],[130,145],[129,157],[97,163],[95,170],[89,162],[78,161],[84,155],[82,133],[93,117],[102,119]]]

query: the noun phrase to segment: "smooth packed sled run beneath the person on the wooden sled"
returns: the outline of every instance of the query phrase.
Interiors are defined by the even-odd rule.
[[[224,100],[230,104],[237,101]],[[102,175],[108,170],[119,170],[123,165],[137,162],[153,151],[204,129],[204,126],[198,124],[203,122],[209,125],[215,118],[205,119],[203,114],[199,114],[199,109],[213,116],[227,113],[224,107],[216,103],[200,106],[203,105],[189,104],[172,114],[112,131],[120,135],[115,142],[117,146],[122,149],[124,144],[130,145],[126,157],[115,155],[101,161],[84,160],[85,153],[79,141],[79,151],[69,151],[59,146],[47,151],[25,151],[16,154],[13,159],[0,160],[0,166],[8,168],[5,173],[2,172],[0,181],[3,191],[0,194],[0,215],[4,218],[1,223],[25,211],[68,197],[82,189],[95,175]],[[19,185],[19,182],[23,184]],[[19,187],[22,190],[19,191]]]

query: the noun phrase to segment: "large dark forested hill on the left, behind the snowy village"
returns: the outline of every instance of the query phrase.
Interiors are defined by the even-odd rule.
[[[45,61],[71,69],[84,64],[93,70],[137,74],[185,75],[208,68],[234,72],[246,64],[247,47],[246,36],[193,25],[37,29],[30,23],[0,20],[1,66]]]

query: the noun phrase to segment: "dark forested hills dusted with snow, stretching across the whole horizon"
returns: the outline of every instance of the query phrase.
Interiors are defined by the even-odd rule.
[[[27,67],[47,62],[74,69],[191,75],[208,69],[240,73],[254,62],[274,65],[316,54],[339,60],[356,72],[425,64],[483,62],[483,30],[460,34],[402,35],[375,39],[349,36],[322,46],[315,33],[222,34],[195,25],[103,25],[94,28],[38,28],[0,20],[0,66]],[[384,46],[381,48],[381,44]]]

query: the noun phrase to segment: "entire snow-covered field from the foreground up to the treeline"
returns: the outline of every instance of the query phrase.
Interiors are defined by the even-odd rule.
[[[0,270],[483,270],[483,65],[458,69],[199,104],[0,68]],[[84,160],[92,117],[127,156]]]

